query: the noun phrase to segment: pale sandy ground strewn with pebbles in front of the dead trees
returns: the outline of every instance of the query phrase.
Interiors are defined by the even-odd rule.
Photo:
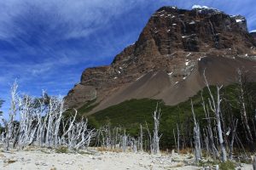
[[[147,153],[55,153],[50,150],[20,150],[0,152],[0,169],[49,169],[49,170],[122,170],[122,169],[204,169],[188,166],[191,156],[152,156]],[[244,164],[241,169],[253,169]]]

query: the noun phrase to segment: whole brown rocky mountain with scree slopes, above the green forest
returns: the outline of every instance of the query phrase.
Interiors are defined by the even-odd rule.
[[[177,105],[210,84],[236,82],[237,69],[256,81],[256,42],[241,15],[214,8],[158,9],[137,42],[111,65],[87,68],[66,97],[89,114],[127,99],[162,99]]]

